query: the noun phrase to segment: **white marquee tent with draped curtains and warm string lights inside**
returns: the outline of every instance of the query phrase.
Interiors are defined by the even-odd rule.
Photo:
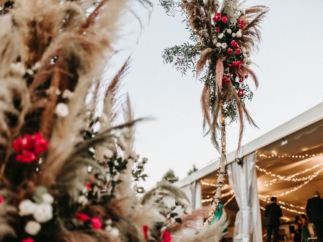
[[[235,151],[227,156],[222,202],[234,226],[234,241],[262,241],[260,211],[271,196],[278,197],[282,222],[288,223],[305,212],[314,190],[323,195],[323,103],[242,146],[240,157],[240,162],[235,159]],[[194,208],[210,203],[219,162],[175,184]]]

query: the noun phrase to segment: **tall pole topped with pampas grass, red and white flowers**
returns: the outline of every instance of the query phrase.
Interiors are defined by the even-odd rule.
[[[167,13],[182,12],[190,30],[190,41],[166,48],[163,57],[183,74],[192,69],[204,88],[201,95],[203,128],[221,152],[217,190],[212,210],[221,201],[226,166],[226,123],[239,120],[240,150],[244,120],[255,126],[246,109],[252,99],[247,79],[258,87],[250,69],[250,54],[261,40],[259,24],[268,9],[265,6],[244,8],[237,0],[160,0]],[[220,141],[220,142],[219,142]],[[211,214],[208,219],[211,221]]]

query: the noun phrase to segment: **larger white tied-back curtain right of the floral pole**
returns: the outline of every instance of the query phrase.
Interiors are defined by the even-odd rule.
[[[255,170],[255,153],[245,156],[242,164],[238,164],[238,162],[229,164],[228,176],[239,206],[233,241],[261,242],[262,228]]]

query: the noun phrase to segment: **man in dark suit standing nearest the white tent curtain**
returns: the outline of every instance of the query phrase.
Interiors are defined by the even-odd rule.
[[[281,207],[277,205],[277,198],[271,198],[271,203],[265,208],[264,216],[267,218],[267,242],[271,242],[272,234],[273,242],[277,242],[280,225],[279,218],[283,216]]]

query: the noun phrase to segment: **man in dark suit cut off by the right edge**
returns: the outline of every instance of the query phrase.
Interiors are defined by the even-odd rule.
[[[307,200],[306,213],[310,222],[313,222],[317,242],[323,242],[323,199],[319,192],[314,192],[314,197]]]

